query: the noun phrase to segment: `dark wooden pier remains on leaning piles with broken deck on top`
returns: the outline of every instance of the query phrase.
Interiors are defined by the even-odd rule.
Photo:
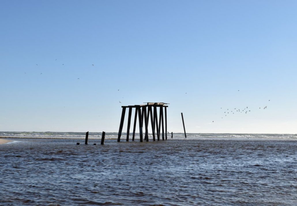
[[[157,132],[157,140],[158,141],[160,140],[161,123],[162,123],[162,140],[164,140],[164,138],[167,140],[167,107],[168,106],[166,104],[168,103],[146,102],[146,104],[141,104],[141,105],[122,106],[122,115],[121,115],[121,122],[119,127],[118,142],[121,140],[126,108],[129,108],[126,141],[129,141],[131,115],[132,115],[133,108],[135,108],[135,116],[134,116],[134,124],[133,124],[132,141],[134,141],[134,138],[135,138],[137,116],[138,116],[138,122],[139,122],[140,142],[143,141],[143,123],[144,123],[144,140],[149,141],[149,135],[148,135],[149,120],[151,120],[153,141],[156,141],[155,132]],[[158,117],[157,117],[157,107],[159,107],[159,125],[158,125]],[[165,108],[165,131],[164,131],[163,108]]]

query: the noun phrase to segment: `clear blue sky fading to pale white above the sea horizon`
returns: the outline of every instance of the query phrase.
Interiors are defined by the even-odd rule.
[[[170,132],[183,132],[183,112],[187,132],[297,133],[296,11],[1,0],[0,131],[117,132],[122,105],[168,102]]]

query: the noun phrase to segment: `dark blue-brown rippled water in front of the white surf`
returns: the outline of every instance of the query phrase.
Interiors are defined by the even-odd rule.
[[[0,205],[297,205],[294,140],[9,139]]]

